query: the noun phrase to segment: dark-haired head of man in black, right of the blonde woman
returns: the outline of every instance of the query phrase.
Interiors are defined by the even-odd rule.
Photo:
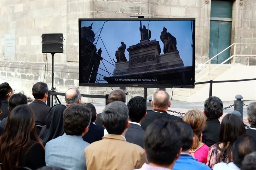
[[[223,114],[223,103],[219,97],[211,96],[205,100],[205,116],[208,119],[218,119]]]

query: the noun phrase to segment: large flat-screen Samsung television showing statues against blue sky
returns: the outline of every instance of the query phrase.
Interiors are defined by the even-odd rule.
[[[79,86],[194,88],[195,19],[79,19]]]

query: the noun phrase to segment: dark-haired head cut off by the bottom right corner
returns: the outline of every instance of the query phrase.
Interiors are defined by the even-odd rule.
[[[245,158],[242,161],[241,170],[255,170],[256,169],[256,152],[252,152],[248,155],[245,155]]]

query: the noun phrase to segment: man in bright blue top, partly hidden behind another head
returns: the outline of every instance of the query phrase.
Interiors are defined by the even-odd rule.
[[[190,148],[194,145],[196,141],[196,137],[193,133],[193,130],[189,124],[183,121],[175,121],[175,124],[181,130],[181,137],[182,137],[182,152],[179,159],[174,164],[173,170],[180,170],[180,169],[200,169],[200,170],[211,170],[207,165],[204,163],[198,162],[197,159],[194,159],[190,154]],[[172,137],[172,135],[170,135]]]

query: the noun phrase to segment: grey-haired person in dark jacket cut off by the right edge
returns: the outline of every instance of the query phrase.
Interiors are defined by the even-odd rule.
[[[256,138],[256,102],[250,103],[247,107],[247,120],[251,125],[246,129],[246,134]]]

